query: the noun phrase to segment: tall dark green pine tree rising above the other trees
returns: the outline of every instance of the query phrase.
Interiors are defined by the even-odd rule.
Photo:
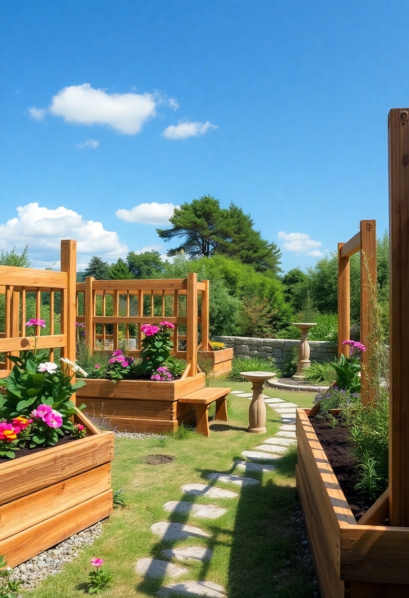
[[[184,253],[192,258],[209,258],[222,254],[252,264],[258,271],[279,271],[279,248],[262,239],[254,230],[251,217],[234,203],[222,209],[218,199],[205,195],[176,208],[170,222],[173,227],[158,228],[158,235],[165,241],[183,242],[167,255]]]

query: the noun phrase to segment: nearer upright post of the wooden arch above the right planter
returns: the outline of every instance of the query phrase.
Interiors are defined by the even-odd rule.
[[[366,351],[361,353],[361,401],[368,405],[374,398],[374,388],[370,384],[371,343],[371,286],[376,292],[376,220],[361,220],[361,343]]]

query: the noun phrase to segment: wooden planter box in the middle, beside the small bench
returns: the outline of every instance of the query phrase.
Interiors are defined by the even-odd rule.
[[[86,380],[77,390],[77,398],[87,405],[88,416],[102,414],[120,431],[163,432],[182,422],[196,422],[196,405],[178,399],[205,388],[205,378],[205,374],[197,374],[171,382]]]

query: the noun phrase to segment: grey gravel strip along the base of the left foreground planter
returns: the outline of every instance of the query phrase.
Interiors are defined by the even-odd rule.
[[[78,556],[81,548],[94,544],[101,533],[102,523],[98,521],[93,526],[75,533],[71,538],[14,567],[10,579],[22,581],[22,590],[33,590],[41,579],[59,573],[66,563],[71,563]]]

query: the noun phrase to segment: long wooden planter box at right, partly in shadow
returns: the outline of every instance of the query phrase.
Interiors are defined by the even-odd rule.
[[[407,598],[409,528],[359,525],[297,409],[297,490],[322,598]]]

